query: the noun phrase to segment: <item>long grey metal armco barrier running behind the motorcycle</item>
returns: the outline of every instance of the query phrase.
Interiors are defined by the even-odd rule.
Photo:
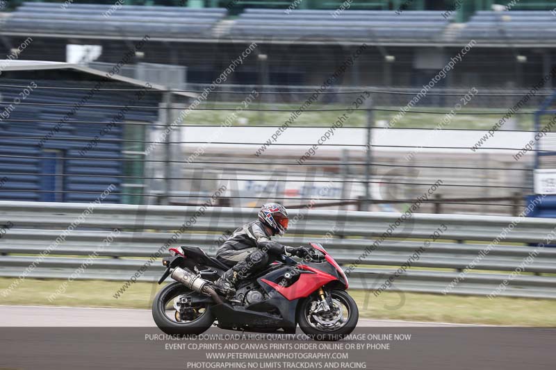
[[[88,204],[81,203],[0,201],[0,224],[14,225],[0,239],[0,276],[19,276],[87,207]],[[50,255],[54,256],[44,258],[28,277],[67,278],[83,263],[83,258],[97,251],[105,258],[95,260],[76,278],[127,280],[198,210],[158,205],[96,205],[90,215],[83,217],[79,227],[51,251]],[[301,212],[303,219],[292,223],[288,236],[281,237],[280,242],[288,245],[323,242],[344,266],[357,260],[366,246],[373,244],[400,217],[389,212]],[[196,245],[213,254],[223,234],[254,217],[256,210],[248,208],[208,208],[195,222],[186,224],[188,228],[172,245]],[[393,284],[393,289],[405,292],[441,293],[512,221],[516,218],[415,214],[395,228],[391,237],[352,271],[350,286],[377,289],[423,246],[424,239],[429,239],[443,225],[442,241],[432,242],[425,248],[419,259],[411,262],[413,267],[396,277]],[[556,249],[537,249],[534,258],[524,263],[535,249],[519,245],[543,242],[556,227],[556,220],[521,218],[518,221],[500,242],[502,245],[494,246],[475,261],[473,269],[450,294],[491,294],[512,271],[522,267],[523,272],[512,276],[500,296],[556,298],[556,276],[553,276]],[[102,240],[113,228],[121,230],[120,234],[101,247]],[[323,241],[322,237],[331,230],[335,237]],[[139,280],[155,280],[161,272],[162,267],[155,262]]]

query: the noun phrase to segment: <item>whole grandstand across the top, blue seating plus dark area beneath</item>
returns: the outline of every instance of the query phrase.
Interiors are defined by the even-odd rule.
[[[104,17],[111,1],[63,10],[60,3],[22,3],[1,13],[0,53],[30,36],[27,59],[65,62],[66,45],[78,44],[101,47],[98,61],[114,63],[126,42],[147,34],[138,62],[181,65],[187,81],[206,84],[222,60],[256,41],[265,62],[245,60],[228,81],[243,85],[320,85],[362,43],[371,47],[336,85],[419,87],[470,40],[477,40],[473,51],[439,87],[525,88],[556,61],[555,1],[522,0],[509,11],[491,10],[490,0],[459,9],[412,1],[402,11],[402,1],[354,1],[337,17],[341,1],[305,0],[288,12],[285,1],[149,3],[183,6],[125,5]]]

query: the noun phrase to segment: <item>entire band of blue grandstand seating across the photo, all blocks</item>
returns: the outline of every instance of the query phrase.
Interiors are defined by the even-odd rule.
[[[479,10],[461,27],[450,28],[436,10],[308,10],[246,8],[236,19],[225,8],[113,6],[72,3],[24,3],[6,17],[3,33],[97,37],[213,38],[272,40],[350,40],[357,42],[442,42],[555,40],[556,17],[550,10]],[[229,22],[222,22],[227,19]],[[220,26],[223,25],[224,26]],[[217,32],[218,31],[218,32]]]

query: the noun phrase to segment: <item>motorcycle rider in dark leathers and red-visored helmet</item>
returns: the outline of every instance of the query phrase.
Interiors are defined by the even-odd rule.
[[[250,278],[275,261],[281,254],[304,257],[304,247],[284,246],[272,242],[270,237],[284,235],[288,230],[288,211],[278,203],[266,203],[259,211],[259,220],[251,221],[227,239],[218,249],[216,258],[220,262],[234,267],[215,281],[220,292],[231,295],[235,293],[239,280]]]

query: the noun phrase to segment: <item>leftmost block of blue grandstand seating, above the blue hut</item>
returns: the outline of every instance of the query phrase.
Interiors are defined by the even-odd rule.
[[[211,29],[226,14],[224,8],[122,6],[77,4],[61,9],[60,3],[24,3],[6,19],[3,31],[71,35],[150,37],[210,37]]]

